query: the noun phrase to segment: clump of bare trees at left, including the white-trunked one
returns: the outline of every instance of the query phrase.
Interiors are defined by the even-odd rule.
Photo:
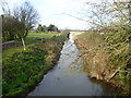
[[[3,10],[3,34],[8,33],[11,36],[17,36],[25,48],[24,38],[27,36],[31,27],[38,22],[38,12],[29,2],[24,2],[20,7],[15,7],[12,12],[7,2],[2,3]],[[4,35],[7,37],[7,35]],[[11,37],[12,39],[14,39]]]

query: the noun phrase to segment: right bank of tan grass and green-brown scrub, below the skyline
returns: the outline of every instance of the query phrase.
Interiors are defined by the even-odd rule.
[[[121,28],[106,34],[88,32],[75,40],[87,75],[120,88],[119,95],[131,94],[130,38],[129,30]]]

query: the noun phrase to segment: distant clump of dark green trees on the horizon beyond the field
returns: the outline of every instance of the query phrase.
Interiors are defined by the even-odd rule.
[[[46,33],[46,32],[59,32],[59,30],[58,30],[58,27],[52,24],[50,24],[49,26],[46,26],[46,25],[41,26],[41,24],[39,24],[37,27],[37,32]]]

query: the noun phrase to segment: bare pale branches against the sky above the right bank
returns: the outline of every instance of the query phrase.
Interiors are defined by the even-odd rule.
[[[110,28],[128,25],[131,2],[129,0],[103,0],[99,3],[86,2],[88,20],[86,22],[96,28]]]

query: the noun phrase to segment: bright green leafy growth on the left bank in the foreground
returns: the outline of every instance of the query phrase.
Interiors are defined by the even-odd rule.
[[[45,71],[46,52],[35,45],[3,60],[3,96],[19,95],[38,82]]]

